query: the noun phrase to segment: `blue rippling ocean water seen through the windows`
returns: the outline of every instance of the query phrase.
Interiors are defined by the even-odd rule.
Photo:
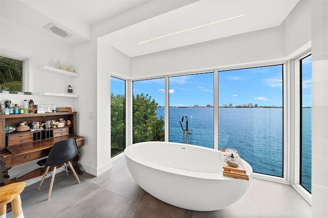
[[[311,108],[303,113],[303,120],[311,120]],[[169,140],[185,143],[179,121],[188,117],[189,144],[213,148],[213,108],[170,107]],[[157,108],[157,116],[164,117],[164,108]],[[310,116],[310,117],[309,117]],[[242,159],[253,167],[254,172],[283,177],[283,125],[282,108],[219,108],[219,148],[237,149]],[[186,128],[186,118],[182,122]],[[303,129],[311,129],[303,121]],[[311,133],[303,133],[302,151],[311,157]],[[307,146],[308,145],[308,146]],[[309,146],[310,145],[310,146]],[[310,152],[309,152],[310,149]],[[302,159],[302,185],[311,188],[311,159]],[[310,166],[310,167],[308,167]],[[310,175],[310,177],[309,177]],[[307,187],[308,188],[308,187]]]

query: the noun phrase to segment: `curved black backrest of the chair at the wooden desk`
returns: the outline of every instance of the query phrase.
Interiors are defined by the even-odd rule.
[[[56,142],[50,149],[46,166],[55,166],[66,163],[74,158],[78,153],[75,138],[70,138]]]

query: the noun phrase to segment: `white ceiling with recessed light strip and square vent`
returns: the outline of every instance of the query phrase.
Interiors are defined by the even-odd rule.
[[[59,38],[56,35],[53,37],[68,43],[68,45],[75,46],[78,43],[90,40],[92,27],[102,21],[115,18],[121,13],[129,13],[129,10],[152,4],[154,11],[140,10],[140,13],[153,13],[152,18],[101,37],[102,40],[108,41],[116,49],[130,57],[134,57],[279,26],[298,1],[1,0],[1,16],[52,36],[54,34],[47,32],[43,27],[53,22],[74,34],[66,39]],[[156,11],[160,11],[157,10],[158,8],[161,6],[169,8],[169,4],[172,5],[172,10],[156,14]],[[243,16],[192,29],[238,15]],[[192,30],[138,44],[140,41],[186,29]]]

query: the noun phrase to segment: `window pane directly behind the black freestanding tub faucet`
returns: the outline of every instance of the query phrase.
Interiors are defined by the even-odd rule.
[[[214,148],[213,72],[169,77],[169,106],[170,142]]]

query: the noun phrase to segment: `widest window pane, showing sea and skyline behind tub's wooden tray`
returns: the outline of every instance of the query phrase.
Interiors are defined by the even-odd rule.
[[[283,176],[283,66],[219,72],[219,149],[234,148],[254,172]]]

